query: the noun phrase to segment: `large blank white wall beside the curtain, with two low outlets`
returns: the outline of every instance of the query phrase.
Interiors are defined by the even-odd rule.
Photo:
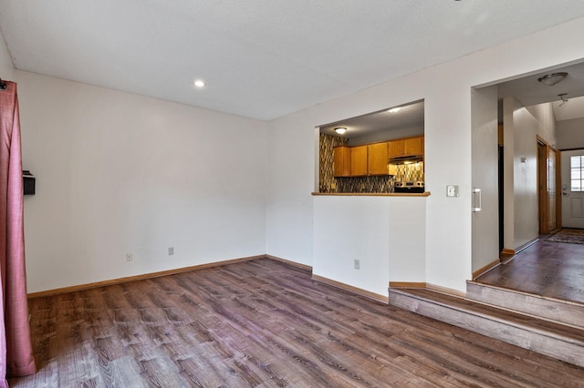
[[[16,77],[29,292],[266,253],[266,123]]]

